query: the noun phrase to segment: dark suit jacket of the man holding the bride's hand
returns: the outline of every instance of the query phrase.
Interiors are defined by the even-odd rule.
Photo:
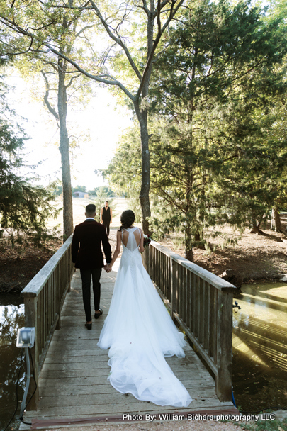
[[[103,252],[106,262],[111,262],[111,245],[108,242],[106,228],[96,220],[86,220],[74,228],[72,240],[72,261],[76,268],[103,268]]]

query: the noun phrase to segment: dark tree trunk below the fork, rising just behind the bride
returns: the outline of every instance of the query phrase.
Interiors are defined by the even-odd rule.
[[[142,186],[140,188],[140,206],[142,208],[142,230],[150,235],[150,151],[147,130],[147,109],[141,110],[138,101],[134,102],[137,120],[140,123],[140,139],[142,142]]]

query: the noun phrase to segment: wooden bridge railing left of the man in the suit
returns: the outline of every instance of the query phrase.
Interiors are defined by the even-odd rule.
[[[21,291],[25,305],[25,326],[35,327],[35,345],[30,351],[37,388],[35,390],[34,381],[31,379],[27,400],[34,391],[35,394],[27,410],[36,410],[37,408],[39,400],[38,376],[52,335],[55,329],[60,328],[62,305],[66,293],[69,291],[74,272],[71,245],[72,235]]]

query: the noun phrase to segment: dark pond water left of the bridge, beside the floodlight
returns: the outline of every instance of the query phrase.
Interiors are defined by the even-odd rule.
[[[26,363],[21,357],[23,349],[16,347],[17,330],[24,325],[23,300],[16,295],[1,293],[0,296],[0,429],[4,430],[16,409],[16,381],[18,400],[22,400],[25,388]],[[19,374],[20,370],[20,374]],[[19,413],[21,403],[18,403]],[[8,430],[18,428],[14,418]]]

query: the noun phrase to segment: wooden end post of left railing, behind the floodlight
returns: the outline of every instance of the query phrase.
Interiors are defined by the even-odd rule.
[[[38,385],[38,325],[37,325],[37,296],[32,298],[25,298],[25,326],[35,327],[35,344],[31,347],[30,354],[32,357],[33,366],[31,365],[31,376],[30,386],[27,395],[27,401],[29,401],[33,392],[35,391],[33,398],[30,400],[26,410],[37,410],[39,401],[39,385]],[[29,348],[29,347],[28,347]],[[34,380],[35,378],[35,380]],[[37,388],[35,390],[35,382]]]

